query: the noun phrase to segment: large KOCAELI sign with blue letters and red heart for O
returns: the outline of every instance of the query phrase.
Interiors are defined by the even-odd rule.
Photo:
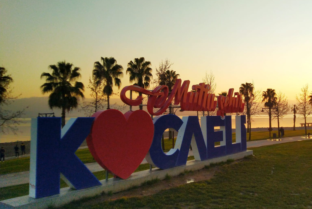
[[[158,91],[161,92],[164,91]],[[180,95],[183,98],[183,94]],[[206,93],[205,100],[205,96],[199,92],[195,95],[197,103],[199,97],[202,102],[207,101],[207,96]],[[229,102],[226,102],[227,98],[221,100],[225,104],[222,113],[230,111],[232,107],[238,110],[235,109],[236,104],[236,108],[241,107],[238,105],[238,95],[235,96]],[[167,99],[164,98],[161,94],[152,97],[153,108],[165,104]],[[195,160],[199,161],[245,151],[246,118],[236,116],[235,121],[236,142],[232,143],[231,116],[202,117],[200,125],[197,116],[180,119],[168,114],[152,119],[143,110],[123,114],[110,109],[96,112],[92,117],[71,119],[62,129],[61,118],[33,118],[29,196],[41,198],[59,194],[60,177],[77,190],[101,185],[75,154],[85,139],[98,164],[115,176],[126,179],[144,158],[160,169],[185,165],[190,145]],[[220,131],[215,131],[215,127],[220,127]],[[165,154],[161,139],[168,128],[178,131],[178,136],[174,149]],[[215,142],[220,142],[220,145],[215,146]]]

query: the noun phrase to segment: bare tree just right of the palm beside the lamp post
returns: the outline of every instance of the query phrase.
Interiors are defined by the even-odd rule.
[[[287,112],[290,110],[290,105],[288,105],[287,97],[285,97],[285,94],[279,92],[276,97],[276,109],[273,109],[272,116],[273,119],[277,119],[278,137],[280,137],[280,119],[287,115]]]

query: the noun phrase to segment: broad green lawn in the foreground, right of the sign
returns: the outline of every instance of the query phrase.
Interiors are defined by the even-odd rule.
[[[62,208],[311,208],[311,150],[312,140],[258,147],[255,156],[220,166],[211,180],[145,197],[105,202],[95,197],[92,204],[77,201]]]

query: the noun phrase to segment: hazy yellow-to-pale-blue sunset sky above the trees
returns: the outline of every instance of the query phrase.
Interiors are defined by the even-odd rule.
[[[217,93],[253,81],[295,99],[312,78],[311,11],[311,0],[0,0],[0,66],[21,97],[43,96],[41,73],[62,60],[87,86],[101,56],[124,67],[124,87],[127,63],[143,56],[154,73],[170,59],[191,85],[211,70]]]

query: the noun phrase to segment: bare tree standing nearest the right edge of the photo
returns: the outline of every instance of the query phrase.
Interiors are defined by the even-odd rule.
[[[297,112],[305,119],[305,135],[307,135],[307,116],[309,112],[311,112],[312,107],[309,103],[309,95],[308,95],[309,85],[306,84],[301,88],[300,97],[296,96],[297,104]]]

